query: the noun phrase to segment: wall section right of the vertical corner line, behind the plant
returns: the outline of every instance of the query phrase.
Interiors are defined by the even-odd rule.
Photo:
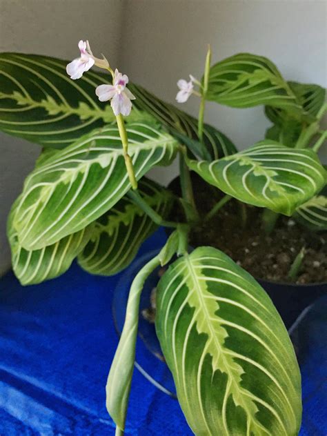
[[[179,78],[201,78],[206,47],[216,62],[237,52],[270,58],[288,80],[326,86],[325,1],[127,0],[123,14],[123,70],[159,97],[174,102]],[[197,115],[192,97],[181,108]],[[264,138],[262,107],[233,109],[208,103],[206,121],[239,148]],[[155,170],[161,181],[172,174]]]

